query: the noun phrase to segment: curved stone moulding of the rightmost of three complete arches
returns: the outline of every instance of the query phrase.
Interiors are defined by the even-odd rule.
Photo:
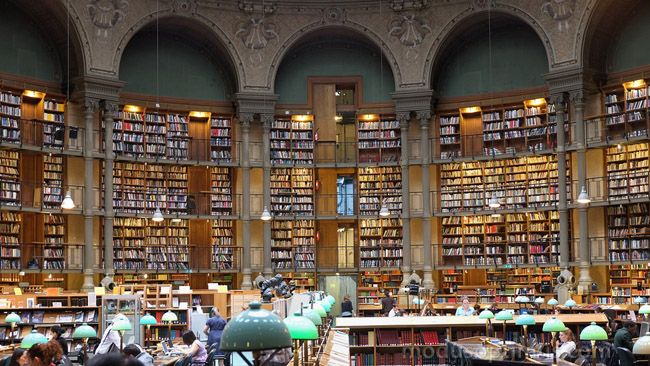
[[[427,54],[422,79],[426,81],[425,85],[429,89],[434,87],[432,85],[434,81],[434,75],[441,66],[441,60],[447,54],[446,51],[449,47],[450,42],[462,32],[471,29],[472,26],[486,21],[488,16],[512,19],[529,26],[539,36],[540,41],[544,45],[544,50],[546,51],[547,56],[547,63],[550,69],[551,65],[553,64],[553,60],[555,59],[553,47],[546,30],[542,28],[542,26],[537,22],[537,20],[535,20],[533,16],[524,10],[508,4],[495,4],[493,6],[493,9],[490,10],[488,10],[487,7],[468,8],[458,14],[455,18],[451,19],[443,27],[442,31],[440,32],[440,36],[434,40],[433,46]]]

